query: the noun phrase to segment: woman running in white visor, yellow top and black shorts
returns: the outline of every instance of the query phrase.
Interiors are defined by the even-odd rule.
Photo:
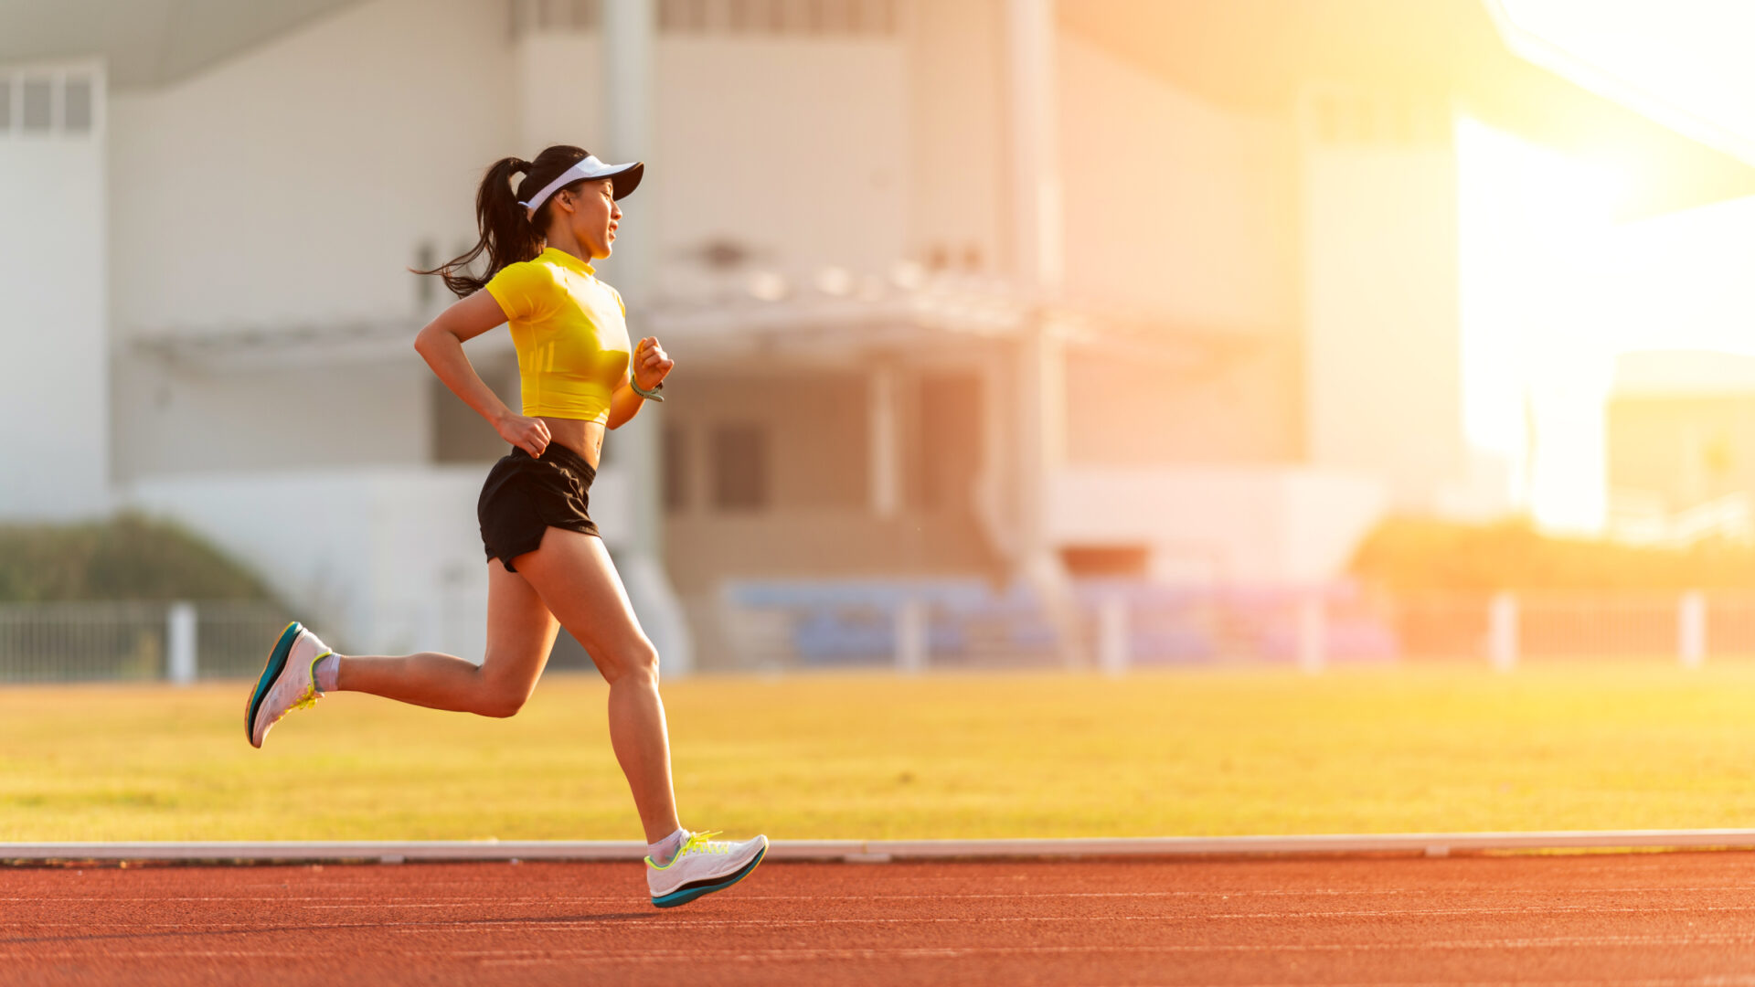
[[[476,516],[488,551],[488,652],[479,666],[423,652],[337,655],[293,622],[269,653],[246,706],[249,743],[293,710],[339,688],[433,710],[511,717],[530,699],[565,627],[609,681],[609,741],[646,827],[646,880],[669,908],[727,889],[767,854],[767,838],[714,841],[688,832],[670,789],[670,741],[658,699],[658,652],[586,515],[604,432],[660,395],[672,360],[656,339],[628,346],[627,307],[597,279],[644,163],[605,165],[555,146],[534,162],[502,158],[481,181],[481,239],[433,270],[460,300],[414,339],[433,374],[474,407],[512,451],[488,471]],[[523,174],[518,193],[512,177]],[[470,265],[483,253],[477,277]],[[486,288],[486,292],[481,292]],[[514,414],[476,374],[463,342],[511,323],[523,379]]]

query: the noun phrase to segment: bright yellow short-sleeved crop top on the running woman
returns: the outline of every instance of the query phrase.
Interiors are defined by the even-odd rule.
[[[621,295],[555,248],[502,267],[488,293],[512,328],[525,414],[607,421],[634,355]]]

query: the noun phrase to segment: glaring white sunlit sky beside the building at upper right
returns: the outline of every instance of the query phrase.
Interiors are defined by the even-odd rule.
[[[1755,160],[1755,4],[1501,0],[1520,53]],[[1615,357],[1755,353],[1755,200],[1616,225],[1625,176],[1460,121],[1465,425],[1488,483],[1601,530]],[[1478,478],[1479,479],[1479,478]]]

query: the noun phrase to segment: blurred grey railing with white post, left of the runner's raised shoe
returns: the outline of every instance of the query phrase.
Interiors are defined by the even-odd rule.
[[[0,681],[249,676],[288,620],[267,602],[0,604]]]

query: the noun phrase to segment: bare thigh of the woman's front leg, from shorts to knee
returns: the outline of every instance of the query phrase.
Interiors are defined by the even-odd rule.
[[[551,527],[514,564],[605,678],[656,660],[604,539]]]

